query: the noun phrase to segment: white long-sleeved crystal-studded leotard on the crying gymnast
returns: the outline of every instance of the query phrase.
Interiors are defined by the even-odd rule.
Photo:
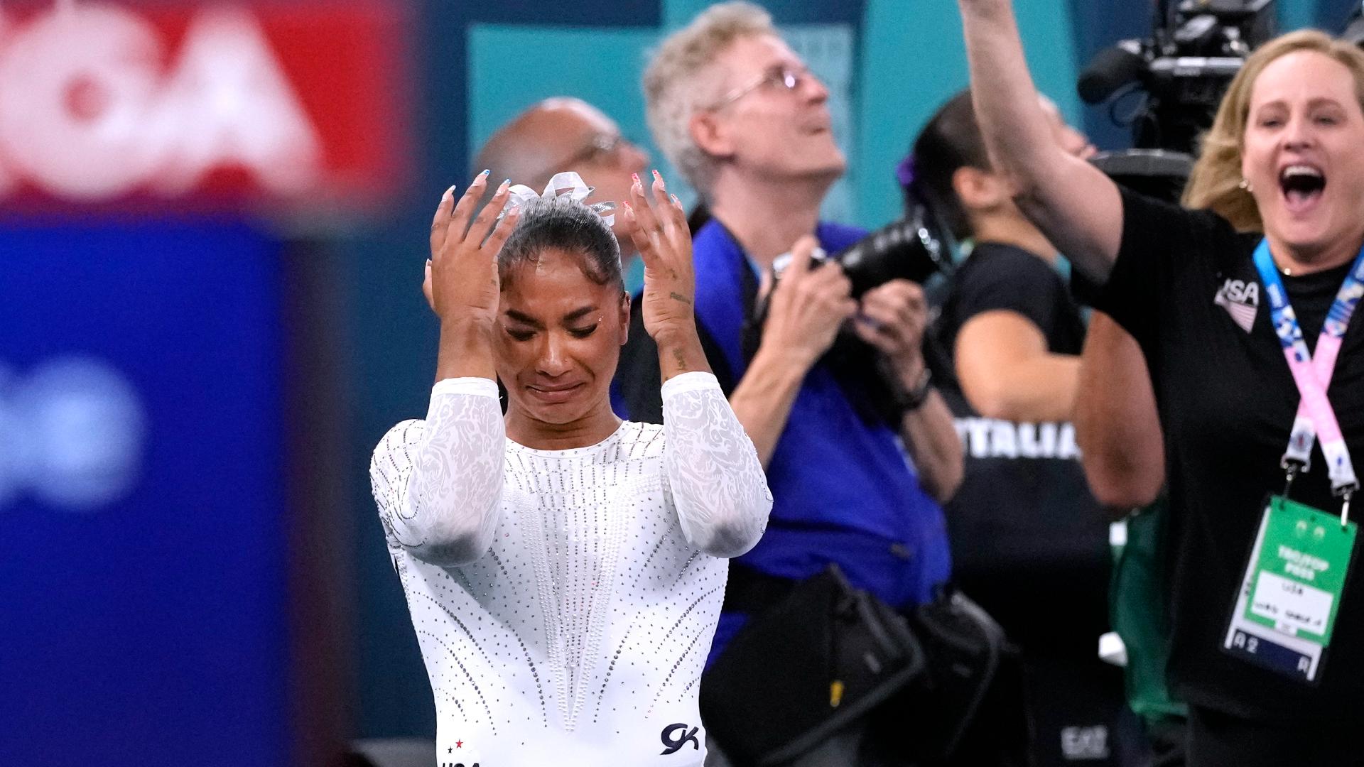
[[[723,557],[772,497],[713,375],[670,379],[663,407],[662,427],[533,450],[506,439],[492,381],[447,379],[375,450],[441,763],[701,764]]]

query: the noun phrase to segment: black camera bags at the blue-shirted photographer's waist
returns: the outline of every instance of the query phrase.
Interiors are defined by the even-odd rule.
[[[731,585],[749,595],[783,580],[731,570]],[[788,764],[858,729],[885,764],[1015,763],[978,762],[983,751],[1020,751],[1026,738],[1012,651],[983,610],[944,591],[911,621],[853,588],[836,565],[787,583],[701,677],[701,715],[737,767]],[[985,742],[967,742],[975,732],[989,733]]]

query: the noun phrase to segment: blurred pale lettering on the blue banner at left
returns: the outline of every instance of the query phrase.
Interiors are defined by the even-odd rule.
[[[20,493],[67,510],[119,501],[145,442],[136,390],[105,362],[60,358],[23,378],[0,367],[0,509]]]

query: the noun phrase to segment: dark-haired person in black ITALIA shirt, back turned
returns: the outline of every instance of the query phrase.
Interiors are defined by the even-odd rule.
[[[1068,153],[1094,153],[1042,102]],[[941,390],[966,449],[947,506],[955,580],[1023,650],[1038,767],[1116,764],[1121,671],[1098,659],[1108,631],[1108,521],[1079,464],[1071,409],[1084,340],[1058,254],[1012,201],[975,123],[971,93],[929,119],[900,167],[908,205],[974,244],[952,276],[936,336]]]

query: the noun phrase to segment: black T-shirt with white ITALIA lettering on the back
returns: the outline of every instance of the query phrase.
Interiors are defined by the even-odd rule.
[[[1031,321],[1048,351],[1080,353],[1084,325],[1061,276],[1026,250],[981,243],[943,304],[944,351],[955,355],[962,326],[996,310]],[[955,375],[944,378],[940,389],[966,450],[962,486],[945,509],[959,583],[1024,644],[1023,635],[1045,629],[1093,655],[1106,631],[1110,554],[1073,426],[981,418]]]

